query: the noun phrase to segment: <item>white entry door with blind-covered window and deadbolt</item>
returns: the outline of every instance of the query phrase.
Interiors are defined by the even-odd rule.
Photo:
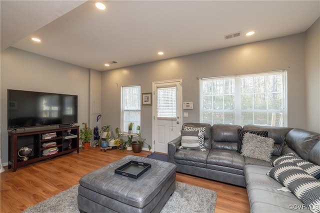
[[[182,123],[182,79],[152,82],[153,151],[167,153],[167,143],[179,136]]]

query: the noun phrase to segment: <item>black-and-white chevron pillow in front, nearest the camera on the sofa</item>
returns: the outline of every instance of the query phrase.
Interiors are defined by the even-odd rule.
[[[278,164],[266,174],[287,187],[312,212],[320,213],[320,180],[293,162]]]

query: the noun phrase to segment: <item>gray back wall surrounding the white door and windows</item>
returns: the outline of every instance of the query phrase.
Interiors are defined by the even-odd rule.
[[[104,71],[101,82],[103,124],[120,126],[120,88],[141,85],[141,92],[152,91],[152,81],[183,79],[183,100],[193,101],[184,110],[183,122],[199,121],[199,80],[287,69],[288,126],[306,128],[305,32],[181,57]],[[152,106],[141,106],[141,129],[152,139]]]

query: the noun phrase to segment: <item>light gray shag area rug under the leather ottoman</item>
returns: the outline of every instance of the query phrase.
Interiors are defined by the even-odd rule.
[[[77,193],[78,185],[74,185],[23,212],[78,213]],[[215,201],[215,191],[176,181],[175,191],[164,204],[161,213],[214,212]]]

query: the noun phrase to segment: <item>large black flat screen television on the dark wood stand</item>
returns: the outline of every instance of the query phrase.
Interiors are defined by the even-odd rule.
[[[77,123],[77,95],[7,90],[8,129]]]

